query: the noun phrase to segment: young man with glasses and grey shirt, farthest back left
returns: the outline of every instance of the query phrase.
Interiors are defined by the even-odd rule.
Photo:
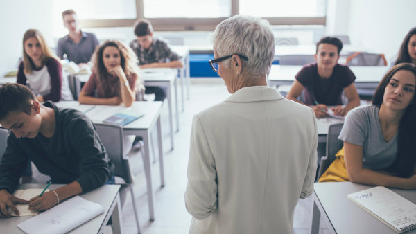
[[[75,62],[78,66],[84,66],[91,60],[91,56],[98,46],[98,39],[94,33],[81,31],[74,10],[64,10],[62,19],[64,27],[68,29],[68,35],[58,40],[56,54],[61,59],[67,55],[69,61]]]

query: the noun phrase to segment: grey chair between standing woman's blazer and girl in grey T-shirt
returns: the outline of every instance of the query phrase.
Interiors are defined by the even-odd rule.
[[[320,159],[320,167],[318,170],[318,176],[316,181],[324,174],[325,170],[335,160],[335,154],[343,147],[343,141],[338,140],[341,129],[343,129],[344,123],[336,123],[330,125],[327,134],[327,155]]]

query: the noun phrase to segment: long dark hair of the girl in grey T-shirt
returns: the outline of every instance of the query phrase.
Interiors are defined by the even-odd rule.
[[[406,70],[415,75],[416,78],[416,66],[410,63],[401,63],[393,66],[385,75],[383,80],[379,83],[379,86],[374,93],[372,104],[381,106],[383,103],[383,97],[385,87],[388,86],[392,76],[397,71]],[[395,162],[387,168],[389,172],[397,174],[399,177],[410,177],[416,165],[416,94],[413,96],[413,100],[410,105],[406,107],[404,115],[401,117],[399,123],[399,134],[397,135],[397,157]]]

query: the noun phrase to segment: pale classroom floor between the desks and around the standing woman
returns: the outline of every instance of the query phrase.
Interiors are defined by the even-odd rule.
[[[162,134],[166,186],[164,188],[160,187],[159,161],[157,160],[151,168],[155,204],[154,222],[149,221],[146,180],[141,153],[139,150],[130,152],[130,166],[135,176],[134,190],[141,233],[189,233],[191,215],[185,209],[184,192],[187,186],[189,135],[192,117],[203,109],[225,100],[228,96],[229,93],[223,80],[218,78],[192,79],[189,100],[185,101],[185,110],[180,112],[180,131],[175,133],[175,150],[173,151],[170,150],[170,136],[168,133],[168,108],[164,105],[162,110]],[[178,96],[178,99],[180,100],[180,96]],[[182,106],[179,107],[181,109]],[[175,123],[175,120],[173,122]],[[153,157],[152,155],[152,152],[150,152],[151,157]],[[298,202],[293,218],[295,233],[311,233],[311,208],[311,197]],[[123,233],[137,233],[130,192],[125,196],[122,213]],[[105,229],[105,233],[112,233],[109,226]],[[276,233],[279,233],[279,231],[276,231]],[[329,233],[329,231],[327,228],[321,227],[320,233]]]

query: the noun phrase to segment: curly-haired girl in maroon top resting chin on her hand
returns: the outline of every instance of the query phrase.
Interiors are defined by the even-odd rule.
[[[78,98],[81,104],[120,105],[130,107],[136,92],[144,89],[136,55],[117,40],[108,40],[96,48],[92,74]],[[94,97],[96,92],[97,98]]]

